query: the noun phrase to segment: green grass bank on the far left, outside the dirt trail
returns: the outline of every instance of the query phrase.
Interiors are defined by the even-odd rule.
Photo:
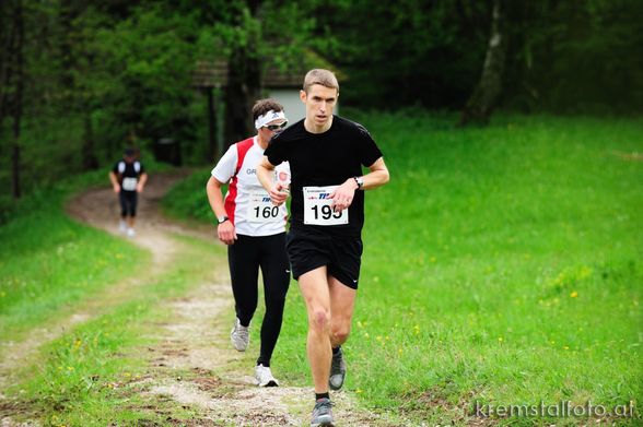
[[[0,335],[17,339],[82,298],[135,274],[149,256],[132,245],[70,220],[67,198],[105,182],[89,174],[22,200],[0,227]]]

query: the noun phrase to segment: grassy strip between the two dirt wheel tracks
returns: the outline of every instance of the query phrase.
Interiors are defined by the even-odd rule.
[[[163,301],[204,283],[212,264],[203,262],[203,253],[218,252],[213,245],[191,238],[177,238],[176,244],[185,250],[162,278],[40,348],[37,369],[25,368],[21,377],[28,380],[9,390],[20,396],[21,417],[55,426],[180,425],[195,419],[195,408],[145,393],[150,378],[195,375],[154,371],[154,354],[147,351],[156,344],[157,325],[171,320]]]

